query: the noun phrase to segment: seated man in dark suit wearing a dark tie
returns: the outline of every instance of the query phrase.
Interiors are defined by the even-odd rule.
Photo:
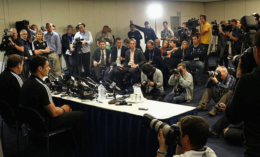
[[[92,64],[90,68],[92,71],[92,76],[94,81],[99,82],[102,80],[100,72],[110,66],[110,58],[109,58],[110,53],[111,50],[106,49],[106,41],[100,40],[99,48],[94,50],[91,59]]]

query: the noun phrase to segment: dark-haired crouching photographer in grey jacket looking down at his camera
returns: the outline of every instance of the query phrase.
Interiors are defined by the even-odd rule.
[[[141,90],[145,98],[152,100],[165,95],[162,72],[151,64],[146,63],[142,66],[141,82]]]

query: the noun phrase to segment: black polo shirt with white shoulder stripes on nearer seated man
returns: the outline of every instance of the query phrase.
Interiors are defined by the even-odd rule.
[[[45,119],[50,118],[44,106],[51,104],[50,88],[36,75],[31,75],[22,85],[21,104],[37,110]]]

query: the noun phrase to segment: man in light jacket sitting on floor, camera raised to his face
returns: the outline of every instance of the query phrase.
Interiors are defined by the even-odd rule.
[[[157,101],[181,103],[186,100],[190,102],[193,97],[193,78],[190,73],[186,71],[186,65],[181,63],[178,65],[178,69],[174,69],[173,75],[170,77],[169,85],[174,85],[174,88],[170,94],[164,99],[159,97]]]

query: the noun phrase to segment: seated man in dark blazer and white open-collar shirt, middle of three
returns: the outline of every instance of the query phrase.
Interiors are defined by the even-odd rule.
[[[122,39],[120,37],[115,39],[116,46],[111,49],[111,62],[110,67],[106,69],[104,80],[112,80],[114,71],[118,69],[118,66],[122,65],[125,60],[125,51],[128,47],[122,45]]]

